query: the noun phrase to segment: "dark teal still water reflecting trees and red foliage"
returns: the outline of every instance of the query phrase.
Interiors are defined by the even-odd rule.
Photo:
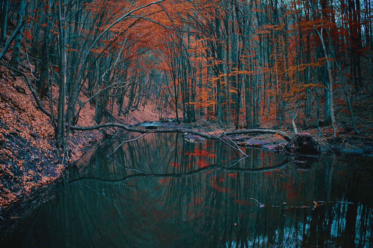
[[[106,156],[125,140],[70,169],[9,245],[373,247],[372,157],[322,156],[299,167],[247,148],[237,161],[222,142],[168,133]]]

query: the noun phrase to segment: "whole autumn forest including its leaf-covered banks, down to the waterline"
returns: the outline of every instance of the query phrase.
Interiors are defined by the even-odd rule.
[[[0,24],[0,215],[103,137],[167,132],[144,121],[372,154],[371,0],[0,0]]]

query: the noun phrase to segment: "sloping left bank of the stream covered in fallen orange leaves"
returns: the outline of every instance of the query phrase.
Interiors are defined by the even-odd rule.
[[[56,148],[50,118],[37,108],[23,78],[13,77],[4,67],[0,67],[0,78],[0,222],[4,222],[8,220],[2,218],[9,215],[7,212],[12,211],[11,207],[19,205],[19,201],[32,199],[40,189],[49,187],[51,182],[61,177],[66,166],[73,164],[105,137],[115,137],[119,129],[74,131],[69,140],[69,158],[66,158],[62,149]],[[52,91],[57,90],[57,86],[53,85]],[[82,95],[80,100],[85,102],[87,99]],[[56,108],[56,102],[57,99],[53,99],[53,108]],[[46,98],[42,104],[49,111]],[[115,121],[131,125],[158,120],[159,116],[169,114],[154,110],[150,104],[140,106],[129,117],[118,116],[116,105],[112,111],[112,114],[106,112],[101,123]],[[94,116],[95,106],[86,104],[78,125],[96,125]]]

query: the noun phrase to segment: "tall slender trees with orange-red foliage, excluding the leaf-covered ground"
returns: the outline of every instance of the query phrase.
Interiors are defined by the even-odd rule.
[[[370,0],[3,0],[1,11],[2,70],[30,72],[57,147],[86,105],[100,124],[114,105],[130,115],[149,101],[178,123],[332,125],[334,136],[344,102],[358,133],[356,95],[373,92]]]

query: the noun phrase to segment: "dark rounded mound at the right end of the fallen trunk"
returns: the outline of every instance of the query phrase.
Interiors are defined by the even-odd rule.
[[[317,155],[320,150],[320,143],[308,133],[296,134],[285,146],[285,151],[289,153]]]

